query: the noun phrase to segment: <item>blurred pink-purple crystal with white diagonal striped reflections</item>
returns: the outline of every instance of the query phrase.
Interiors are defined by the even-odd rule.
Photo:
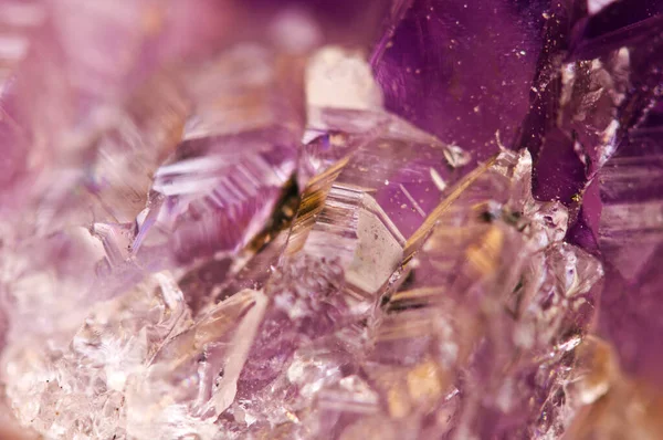
[[[169,235],[183,261],[239,250],[260,231],[296,165],[301,108],[282,93],[297,69],[280,63],[266,49],[241,46],[188,78],[196,111],[155,172],[134,251],[150,230]]]

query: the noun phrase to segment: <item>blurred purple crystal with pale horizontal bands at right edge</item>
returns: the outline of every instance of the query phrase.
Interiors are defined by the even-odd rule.
[[[655,109],[641,128],[631,133],[629,145],[602,169],[599,237],[609,276],[601,329],[615,343],[627,371],[661,386],[655,367],[661,346],[655,338],[641,339],[660,332],[653,318],[660,310],[655,293],[660,275],[655,268],[663,234],[659,118]],[[633,344],[634,338],[642,343]]]

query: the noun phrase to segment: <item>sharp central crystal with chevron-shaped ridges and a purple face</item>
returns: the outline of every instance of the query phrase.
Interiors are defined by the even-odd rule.
[[[366,81],[356,60],[338,54],[325,60],[327,52],[318,56],[324,61],[314,59],[309,72],[323,69],[320,63],[345,72],[349,64]],[[309,90],[320,86],[318,75],[309,74]],[[304,169],[319,175],[304,190],[286,255],[326,261],[332,250],[344,270],[348,297],[364,296],[366,307],[402,260],[406,237],[440,199],[443,188],[435,178],[457,176],[454,168],[464,163],[457,164],[456,156],[465,154],[382,111],[352,109],[379,104],[375,97],[362,101],[334,102],[314,94],[308,103],[307,132],[316,137],[304,147]],[[320,103],[328,106],[318,107]],[[330,137],[330,144],[320,139]]]

